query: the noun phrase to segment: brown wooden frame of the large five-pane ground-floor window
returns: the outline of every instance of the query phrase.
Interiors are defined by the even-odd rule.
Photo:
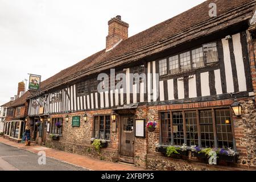
[[[160,137],[159,137],[159,142],[161,145],[167,145],[169,146],[170,144],[163,144],[162,142],[162,113],[170,113],[170,124],[171,124],[171,141],[169,141],[168,143],[171,143],[171,145],[174,145],[174,133],[173,133],[173,117],[172,117],[172,113],[175,112],[183,112],[183,125],[185,125],[185,115],[184,113],[187,111],[196,111],[196,123],[197,123],[197,134],[198,134],[198,143],[199,143],[199,147],[201,147],[201,129],[200,129],[200,110],[212,110],[212,118],[213,118],[213,135],[214,135],[214,146],[213,147],[220,147],[218,146],[219,141],[217,140],[217,130],[216,130],[216,110],[227,110],[229,109],[229,113],[230,113],[230,125],[231,125],[231,133],[232,133],[232,139],[233,139],[233,150],[237,151],[236,148],[236,140],[235,140],[235,134],[234,134],[234,122],[233,122],[233,112],[232,112],[232,108],[230,106],[216,106],[216,107],[200,107],[200,108],[195,108],[195,109],[175,109],[175,110],[159,110],[159,122],[160,122]],[[184,133],[184,142],[187,142],[187,131],[186,131],[186,125],[183,128],[183,133]],[[189,146],[188,146],[189,147]]]

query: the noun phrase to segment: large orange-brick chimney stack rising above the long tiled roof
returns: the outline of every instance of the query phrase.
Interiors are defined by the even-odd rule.
[[[106,52],[113,49],[122,40],[128,38],[129,24],[121,20],[121,16],[116,16],[108,22],[109,35],[106,37]]]

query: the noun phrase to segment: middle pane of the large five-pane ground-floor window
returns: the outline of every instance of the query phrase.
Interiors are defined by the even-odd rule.
[[[198,146],[198,134],[196,123],[196,111],[185,112],[185,121],[187,129],[187,144],[188,146]]]

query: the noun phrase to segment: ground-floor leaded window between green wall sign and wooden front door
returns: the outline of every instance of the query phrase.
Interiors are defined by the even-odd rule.
[[[94,117],[94,138],[110,140],[110,115]]]

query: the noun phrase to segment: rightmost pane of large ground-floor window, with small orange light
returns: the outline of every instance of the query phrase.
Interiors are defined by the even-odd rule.
[[[216,122],[218,147],[226,149],[229,147],[233,148],[233,137],[229,109],[216,109],[215,115],[216,121],[218,121]]]

